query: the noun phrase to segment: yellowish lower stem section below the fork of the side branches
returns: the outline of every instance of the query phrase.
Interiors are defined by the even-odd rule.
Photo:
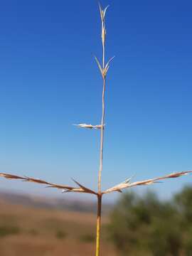
[[[101,230],[102,195],[97,196],[97,239],[96,256],[100,256],[100,230]]]

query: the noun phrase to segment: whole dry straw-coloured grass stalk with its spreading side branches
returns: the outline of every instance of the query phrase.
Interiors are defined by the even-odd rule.
[[[48,188],[58,188],[61,189],[63,192],[75,192],[75,193],[90,193],[95,196],[97,196],[97,239],[96,239],[96,256],[100,256],[100,228],[101,228],[101,210],[102,210],[102,196],[104,196],[107,193],[112,192],[122,192],[124,188],[131,188],[134,186],[142,186],[142,185],[150,185],[152,183],[157,183],[158,181],[164,180],[166,178],[178,178],[180,176],[184,176],[186,174],[190,174],[192,171],[181,171],[178,173],[172,173],[168,174],[166,176],[161,176],[158,178],[150,178],[144,181],[137,181],[134,183],[130,183],[131,178],[128,178],[126,181],[119,183],[116,186],[113,186],[112,188],[107,189],[106,191],[102,191],[101,189],[101,178],[102,178],[102,161],[103,161],[103,144],[104,144],[104,128],[105,128],[105,87],[106,87],[106,76],[107,72],[110,68],[110,62],[112,61],[112,58],[105,64],[105,42],[106,42],[106,27],[105,27],[105,16],[106,12],[109,6],[107,6],[105,9],[102,9],[102,6],[99,4],[100,7],[100,18],[101,18],[101,38],[102,38],[102,65],[100,64],[100,61],[95,56],[96,63],[98,65],[98,68],[100,70],[100,73],[102,75],[103,80],[103,87],[102,87],[102,119],[101,124],[98,125],[92,125],[92,124],[74,124],[77,127],[85,128],[85,129],[100,129],[101,136],[100,136],[100,169],[98,171],[98,191],[92,191],[90,188],[87,188],[85,186],[82,186],[78,181],[73,180],[78,187],[72,187],[72,186],[65,186],[65,185],[59,185],[55,183],[50,183],[47,181],[43,181],[41,179],[37,178],[31,178],[31,177],[21,177],[16,176],[14,174],[4,174],[0,173],[1,177],[8,178],[8,179],[16,179],[21,181],[28,181],[33,183],[40,183],[43,185],[46,185]]]

